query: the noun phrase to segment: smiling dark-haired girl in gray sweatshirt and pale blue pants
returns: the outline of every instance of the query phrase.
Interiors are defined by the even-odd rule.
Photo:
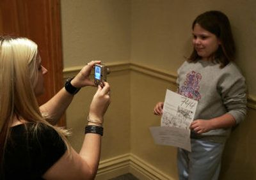
[[[178,93],[198,101],[191,123],[191,152],[178,149],[180,179],[218,179],[221,154],[232,126],[246,116],[246,86],[234,64],[227,16],[206,11],[194,20],[191,56],[178,70]],[[163,113],[163,102],[154,113]]]

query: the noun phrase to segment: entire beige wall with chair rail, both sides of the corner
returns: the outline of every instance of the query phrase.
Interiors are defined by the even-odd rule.
[[[91,59],[111,67],[111,106],[105,117],[101,160],[131,153],[148,167],[177,179],[176,149],[154,144],[148,128],[159,126],[152,114],[166,88],[175,89],[176,71],[191,52],[191,23],[206,10],[230,18],[237,60],[246,77],[248,117],[238,126],[223,155],[221,179],[256,178],[256,1],[61,0],[65,77]],[[88,105],[95,89],[76,95],[67,110],[70,142],[79,150]]]

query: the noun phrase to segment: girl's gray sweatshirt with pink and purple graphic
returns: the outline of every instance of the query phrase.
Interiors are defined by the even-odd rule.
[[[246,85],[236,64],[224,68],[220,64],[199,60],[185,61],[178,70],[178,93],[198,101],[196,119],[212,119],[225,113],[231,114],[236,123],[246,116]],[[191,138],[225,142],[231,128],[211,130],[198,135],[191,131]]]

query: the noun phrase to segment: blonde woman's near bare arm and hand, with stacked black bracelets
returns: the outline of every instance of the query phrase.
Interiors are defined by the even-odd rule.
[[[103,116],[110,102],[109,85],[98,87],[90,105],[89,116],[94,121],[103,123]],[[96,125],[88,123],[88,125]],[[101,136],[97,133],[86,133],[83,146],[78,153],[70,147],[68,151],[44,174],[45,179],[94,179],[100,159]]]

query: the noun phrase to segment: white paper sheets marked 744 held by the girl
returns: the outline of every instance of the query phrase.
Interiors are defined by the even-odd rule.
[[[181,147],[191,151],[189,126],[195,117],[198,101],[166,90],[161,127],[150,131],[156,144]]]

